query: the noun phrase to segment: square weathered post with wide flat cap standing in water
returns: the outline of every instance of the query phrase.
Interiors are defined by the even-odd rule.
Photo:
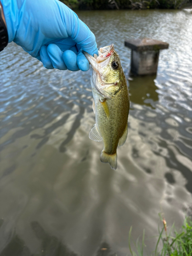
[[[125,40],[132,50],[131,73],[134,75],[157,74],[159,51],[168,48],[167,42],[150,38]]]

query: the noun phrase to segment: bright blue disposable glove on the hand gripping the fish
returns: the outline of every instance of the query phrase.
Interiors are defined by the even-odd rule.
[[[0,1],[9,42],[16,42],[47,69],[89,69],[82,50],[98,53],[95,36],[66,5],[57,0]]]

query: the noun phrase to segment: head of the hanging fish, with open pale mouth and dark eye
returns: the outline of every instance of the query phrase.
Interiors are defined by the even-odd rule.
[[[100,48],[99,56],[95,54],[93,57],[86,52],[83,53],[94,70],[92,79],[96,89],[106,97],[112,95],[112,92],[119,91],[121,63],[114,45]]]

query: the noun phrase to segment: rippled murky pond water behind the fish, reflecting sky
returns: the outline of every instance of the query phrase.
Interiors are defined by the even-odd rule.
[[[129,135],[118,168],[99,160],[89,72],[46,70],[15,44],[0,53],[0,255],[128,253],[146,230],[155,249],[158,213],[181,227],[192,206],[192,16],[189,11],[78,12],[98,47],[124,39],[169,43],[158,75],[129,81]],[[155,80],[154,80],[155,79]],[[101,248],[107,248],[101,250]]]

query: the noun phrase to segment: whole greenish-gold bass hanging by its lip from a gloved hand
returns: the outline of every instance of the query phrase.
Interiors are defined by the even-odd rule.
[[[96,124],[89,138],[103,140],[100,160],[116,169],[117,146],[125,143],[128,132],[130,100],[126,78],[113,44],[100,48],[99,56],[83,53],[93,67],[91,87]]]

